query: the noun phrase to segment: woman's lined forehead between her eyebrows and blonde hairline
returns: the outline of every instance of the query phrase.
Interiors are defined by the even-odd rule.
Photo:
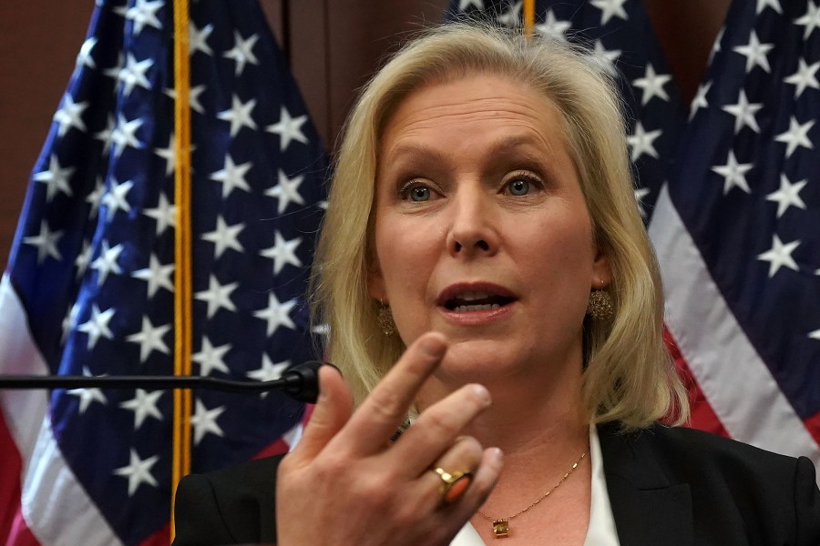
[[[379,156],[431,138],[466,146],[465,135],[529,140],[551,151],[566,144],[559,110],[547,96],[507,76],[471,74],[405,96],[386,119]]]

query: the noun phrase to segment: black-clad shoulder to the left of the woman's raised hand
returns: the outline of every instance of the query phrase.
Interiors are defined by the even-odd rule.
[[[275,541],[276,470],[282,455],[179,481],[175,546]]]

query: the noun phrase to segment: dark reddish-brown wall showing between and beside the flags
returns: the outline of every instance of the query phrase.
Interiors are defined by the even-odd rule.
[[[329,151],[357,90],[414,30],[442,19],[447,0],[260,0]],[[688,101],[730,0],[644,0]],[[0,3],[0,264],[26,184],[94,7],[93,0]]]

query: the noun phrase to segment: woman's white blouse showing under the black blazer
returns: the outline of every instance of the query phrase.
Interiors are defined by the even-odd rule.
[[[584,546],[620,546],[615,518],[612,516],[607,479],[600,455],[600,440],[595,425],[589,427],[589,457],[592,459],[592,491],[589,501],[589,528]],[[486,546],[469,521],[458,531],[450,546]]]

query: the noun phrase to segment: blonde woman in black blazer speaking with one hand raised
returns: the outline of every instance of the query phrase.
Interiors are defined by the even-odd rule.
[[[820,543],[809,460],[656,424],[687,403],[615,96],[476,26],[384,66],[315,262],[344,379],[284,459],[183,480],[178,544]]]

